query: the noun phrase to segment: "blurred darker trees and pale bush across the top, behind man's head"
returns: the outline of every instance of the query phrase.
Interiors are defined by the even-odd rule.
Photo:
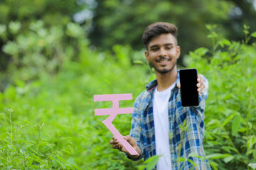
[[[197,47],[210,47],[206,24],[216,24],[220,37],[243,40],[243,25],[256,30],[256,1],[11,1],[0,2],[0,70],[35,69],[22,79],[33,79],[40,69],[58,72],[68,55],[78,60],[81,43],[92,51],[144,50],[142,33],[163,21],[178,27],[181,60]],[[68,54],[67,54],[68,50]],[[38,60],[35,61],[35,56]],[[132,57],[130,57],[132,58]],[[36,63],[38,65],[36,65]],[[50,64],[46,64],[50,62]],[[45,64],[45,66],[43,66]],[[29,68],[28,68],[29,66]],[[15,67],[15,68],[14,68]],[[43,68],[42,68],[43,67]],[[48,68],[46,68],[48,67]],[[1,91],[11,81],[1,76]]]

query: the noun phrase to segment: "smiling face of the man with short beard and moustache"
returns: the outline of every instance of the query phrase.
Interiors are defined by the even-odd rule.
[[[181,54],[181,48],[176,45],[174,35],[161,34],[152,38],[145,52],[146,60],[149,61],[156,72],[166,74],[176,68],[176,62]]]

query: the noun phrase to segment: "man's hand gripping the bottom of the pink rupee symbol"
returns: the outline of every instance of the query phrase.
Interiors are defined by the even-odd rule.
[[[119,140],[117,140],[116,137],[112,137],[113,140],[110,140],[110,145],[112,145],[112,148],[114,149],[119,149],[119,151],[121,152],[124,152],[124,153],[127,153],[129,154],[129,152],[127,151],[127,149],[125,149],[121,142],[119,142]],[[127,142],[129,143],[129,145],[131,145],[135,150],[136,152],[141,155],[142,154],[142,150],[140,149],[140,147],[137,145],[137,142],[136,140],[134,140],[133,137],[131,137],[130,135],[127,135],[127,136],[124,136],[124,140],[127,140]],[[133,158],[133,159],[136,159],[137,157],[139,157],[139,155],[130,155],[129,154],[129,157]]]

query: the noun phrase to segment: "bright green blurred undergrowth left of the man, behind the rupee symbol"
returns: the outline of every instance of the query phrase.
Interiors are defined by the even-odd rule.
[[[72,26],[77,27],[75,24]],[[14,42],[18,45],[18,52],[23,54],[17,62],[26,60],[28,64],[18,67],[18,64],[12,63],[9,79],[13,81],[0,93],[0,111],[6,113],[7,108],[15,111],[11,114],[11,127],[5,114],[0,119],[1,146],[5,148],[0,153],[1,168],[134,169],[142,164],[129,161],[124,154],[111,148],[109,141],[112,134],[102,123],[107,117],[95,117],[93,111],[94,108],[110,108],[111,103],[94,103],[92,98],[95,94],[132,93],[135,99],[144,90],[150,77],[146,75],[146,67],[125,62],[129,61],[128,53],[133,55],[129,47],[116,46],[115,55],[94,52],[87,47],[87,39],[82,36],[70,38],[80,47],[77,59],[74,59],[75,47],[64,49],[65,46],[60,42],[66,37],[64,28],[58,31],[63,37],[50,39],[55,41],[48,44],[48,38],[57,35],[48,35],[51,29],[42,27],[42,21],[31,23],[32,30],[28,35],[18,35]],[[47,32],[46,37],[38,35],[37,31],[41,29]],[[30,39],[44,40],[45,45],[23,45],[18,43],[20,38],[23,38],[24,43]],[[23,47],[27,49],[23,50]],[[51,52],[57,47],[60,52],[65,52],[62,53],[63,60],[59,62],[58,70],[51,72],[48,64],[54,59],[58,60],[57,55],[60,53],[47,55],[44,52]],[[5,46],[4,49],[8,48]],[[31,53],[40,54],[43,61],[32,60],[29,57]],[[133,57],[142,59],[138,55]],[[41,64],[45,64],[42,69]],[[22,76],[25,73],[34,75],[34,72],[36,77],[25,79]],[[134,100],[120,102],[120,106],[131,107],[133,103]],[[131,114],[118,115],[114,120],[113,124],[122,135],[129,134],[131,118]],[[15,149],[8,149],[10,139],[13,139]],[[10,155],[16,157],[12,162]]]

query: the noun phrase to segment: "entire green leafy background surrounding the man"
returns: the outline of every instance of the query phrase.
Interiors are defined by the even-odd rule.
[[[256,111],[252,87],[255,18],[256,0],[1,0],[0,167],[146,166],[129,161],[107,145],[112,134],[101,123],[107,117],[95,117],[93,110],[111,107],[111,103],[96,104],[92,98],[95,94],[125,93],[136,98],[144,91],[155,77],[144,60],[142,34],[149,24],[162,21],[178,27],[178,68],[199,68],[213,82],[210,88],[215,92],[208,104],[214,107],[206,108],[206,123],[213,130],[206,130],[211,166],[256,169],[256,120],[250,119]],[[240,77],[234,75],[238,70]],[[233,77],[229,83],[228,77]],[[243,93],[238,81],[247,84],[243,89],[249,96],[243,104],[246,97],[237,96]],[[237,91],[220,95],[233,86]],[[122,106],[131,107],[133,102]],[[211,114],[215,108],[220,108],[214,114],[222,121]],[[116,121],[122,135],[129,134],[130,120],[131,115],[120,115]],[[223,121],[228,143],[223,140],[223,129],[218,129]],[[245,128],[249,130],[246,134]],[[233,143],[234,139],[238,143]],[[224,149],[213,149],[224,143]]]

